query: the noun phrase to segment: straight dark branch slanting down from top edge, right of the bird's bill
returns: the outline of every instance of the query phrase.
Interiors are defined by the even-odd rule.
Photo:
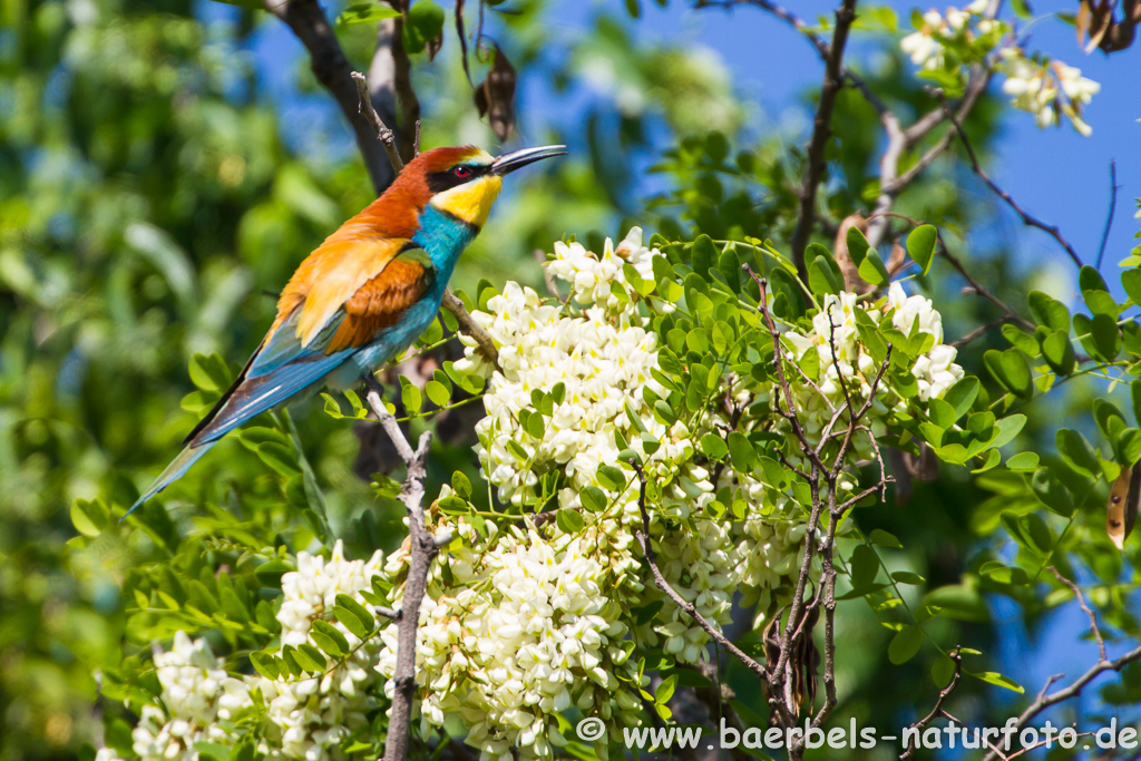
[[[808,240],[816,224],[816,188],[824,177],[824,152],[828,138],[832,137],[832,111],[836,105],[836,95],[843,86],[844,46],[848,42],[848,31],[855,21],[856,0],[843,0],[836,9],[836,27],[828,46],[820,102],[812,120],[812,138],[808,144],[804,181],[800,188],[800,210],[796,213],[796,227],[791,240],[793,264],[801,273],[804,272],[804,249],[808,248]]]

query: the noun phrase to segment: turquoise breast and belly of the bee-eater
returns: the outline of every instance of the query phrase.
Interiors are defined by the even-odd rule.
[[[377,338],[353,356],[353,362],[345,363],[329,384],[334,388],[348,388],[355,384],[365,373],[375,372],[386,362],[399,355],[411,346],[439,313],[444,300],[444,290],[452,278],[455,262],[460,254],[475,240],[479,232],[472,225],[458,219],[431,204],[420,214],[420,229],[412,241],[422,248],[431,259],[435,277],[424,294],[414,305],[404,310],[394,325],[383,329]]]

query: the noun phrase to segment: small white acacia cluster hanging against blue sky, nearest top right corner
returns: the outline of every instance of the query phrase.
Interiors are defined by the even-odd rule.
[[[1083,107],[1101,90],[1101,84],[1082,76],[1082,70],[1060,60],[1027,58],[1019,48],[1005,48],[998,70],[1006,75],[1002,89],[1012,96],[1011,105],[1034,114],[1038,127],[1053,127],[1065,114],[1082,135],[1093,129],[1082,119]]]

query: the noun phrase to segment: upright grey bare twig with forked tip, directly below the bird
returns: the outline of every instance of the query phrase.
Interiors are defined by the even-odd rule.
[[[404,761],[408,750],[408,728],[412,722],[412,703],[415,697],[416,667],[416,630],[420,625],[420,604],[428,586],[428,572],[431,562],[439,553],[439,548],[446,539],[432,536],[424,524],[424,486],[428,475],[428,447],[431,445],[431,431],[424,431],[416,448],[413,450],[400,431],[396,418],[385,406],[380,384],[372,375],[365,378],[369,382],[366,398],[369,406],[380,419],[380,424],[388,432],[400,453],[400,459],[407,468],[404,487],[400,489],[400,502],[408,513],[408,574],[404,582],[404,594],[397,621],[396,671],[393,674],[393,706],[388,713],[388,735],[385,742],[385,761]]]

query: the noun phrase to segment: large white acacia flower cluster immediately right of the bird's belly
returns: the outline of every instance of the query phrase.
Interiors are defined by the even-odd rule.
[[[650,462],[681,462],[694,452],[685,426],[667,430],[642,399],[646,387],[665,392],[650,375],[657,367],[657,335],[638,315],[637,293],[622,264],[630,261],[653,277],[652,259],[658,252],[642,246],[637,227],[617,248],[607,241],[600,258],[577,243],[555,248],[549,272],[570,283],[583,309],[544,303],[532,289],[508,282],[503,293],[488,301],[488,311],[472,315],[495,342],[503,369],[492,375],[484,396],[487,416],[476,426],[477,451],[500,500],[512,504],[535,500],[541,476],[551,469],[564,470],[574,492],[598,486],[599,467],[618,461],[615,431],[631,438],[634,426],[628,408],[662,443]],[[613,293],[614,284],[626,293],[625,300]],[[456,369],[475,369],[478,356],[469,349],[468,362]],[[479,369],[489,372],[491,366]],[[526,432],[520,412],[532,406],[532,391],[551,391],[559,383],[564,399],[536,438]]]

